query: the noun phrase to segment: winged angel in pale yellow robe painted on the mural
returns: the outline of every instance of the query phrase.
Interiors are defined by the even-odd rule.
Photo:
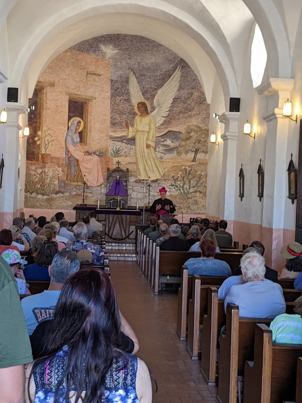
[[[165,170],[155,155],[156,128],[168,116],[170,106],[178,90],[181,67],[178,66],[170,79],[157,91],[153,104],[155,110],[150,114],[149,102],[143,98],[137,78],[129,68],[129,92],[132,105],[137,113],[133,127],[125,120],[126,135],[135,137],[135,162],[137,166],[137,180],[151,179],[157,182]]]

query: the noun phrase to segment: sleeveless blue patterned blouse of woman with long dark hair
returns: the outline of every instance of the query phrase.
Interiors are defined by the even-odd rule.
[[[34,403],[53,403],[58,380],[65,371],[68,357],[68,347],[64,346],[54,357],[46,360],[33,372],[35,381]],[[123,368],[120,370],[120,368]],[[139,403],[135,390],[137,376],[137,357],[125,353],[116,359],[106,376],[105,393],[101,403]],[[71,391],[76,388],[72,387]],[[66,380],[62,383],[58,402],[64,401],[66,393]]]

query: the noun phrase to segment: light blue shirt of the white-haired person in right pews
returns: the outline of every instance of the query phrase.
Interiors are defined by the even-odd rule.
[[[281,285],[271,280],[233,285],[224,299],[225,312],[228,303],[238,305],[243,318],[275,318],[286,308]]]

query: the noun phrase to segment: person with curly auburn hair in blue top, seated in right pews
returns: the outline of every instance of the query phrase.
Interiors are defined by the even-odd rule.
[[[214,259],[216,246],[212,239],[203,239],[200,249],[200,258],[190,258],[184,263],[189,275],[230,276],[232,274],[227,262]]]

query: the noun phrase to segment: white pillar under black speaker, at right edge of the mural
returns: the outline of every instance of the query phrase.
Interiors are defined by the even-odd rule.
[[[223,159],[220,181],[219,217],[234,221],[235,178],[236,178],[236,151],[238,139],[238,119],[240,112],[223,112],[219,115],[219,122],[224,123]],[[231,223],[230,223],[231,224]],[[232,232],[232,225],[230,229]]]

